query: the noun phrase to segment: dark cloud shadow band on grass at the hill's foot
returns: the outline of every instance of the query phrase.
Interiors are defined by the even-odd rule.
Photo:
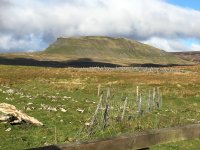
[[[0,57],[0,64],[1,65],[17,65],[17,66],[54,67],[54,68],[122,67],[121,65],[118,65],[118,64],[93,61],[90,58],[79,58],[76,60],[68,60],[68,61],[44,61],[44,60],[39,61],[32,58]],[[146,63],[146,64],[130,64],[128,67],[172,67],[172,66],[183,66],[183,65]]]

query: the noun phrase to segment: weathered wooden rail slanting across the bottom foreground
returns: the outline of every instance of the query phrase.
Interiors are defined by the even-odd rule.
[[[190,139],[200,139],[200,124],[138,132],[91,142],[51,145],[33,150],[131,150]]]

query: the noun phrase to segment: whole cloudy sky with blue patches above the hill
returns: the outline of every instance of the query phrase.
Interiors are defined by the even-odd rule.
[[[199,0],[0,0],[0,53],[42,51],[71,36],[200,51],[199,25]]]

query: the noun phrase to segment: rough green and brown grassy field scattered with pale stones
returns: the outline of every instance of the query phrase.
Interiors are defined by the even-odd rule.
[[[0,149],[24,149],[200,123],[199,72],[200,66],[114,70],[0,65],[0,102],[13,104],[45,124],[0,124]],[[89,136],[85,123],[96,109],[99,84],[104,91],[111,86],[116,101],[127,95],[133,103],[137,86],[144,93],[159,87],[163,107],[131,120],[113,121],[105,130]],[[8,128],[11,131],[5,131]],[[199,149],[199,145],[199,140],[193,140],[152,149]]]

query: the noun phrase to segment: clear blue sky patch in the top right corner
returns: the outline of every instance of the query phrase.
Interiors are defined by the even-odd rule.
[[[200,0],[167,0],[167,2],[185,8],[200,10]]]

